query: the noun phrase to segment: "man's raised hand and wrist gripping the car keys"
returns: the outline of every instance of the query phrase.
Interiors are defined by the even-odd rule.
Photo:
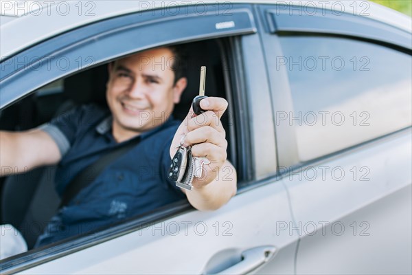
[[[223,98],[201,100],[205,113],[194,116],[192,107],[174,135],[170,157],[176,153],[184,137],[183,146],[192,146],[194,157],[206,157],[210,164],[203,165],[201,178],[194,178],[193,189],[185,192],[190,203],[198,209],[216,209],[236,193],[236,170],[227,162],[227,140],[220,118],[227,109]],[[194,116],[194,117],[193,117]],[[229,180],[222,180],[222,168],[229,170]],[[227,174],[227,173],[226,173]]]

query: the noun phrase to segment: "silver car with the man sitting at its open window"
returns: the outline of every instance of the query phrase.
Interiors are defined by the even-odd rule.
[[[411,274],[410,17],[369,1],[1,1],[1,14],[1,129],[104,104],[108,62],[185,43],[176,117],[207,65],[239,179],[214,212],[178,201],[30,249],[58,206],[55,168],[5,177],[1,223],[29,251],[1,274]]]

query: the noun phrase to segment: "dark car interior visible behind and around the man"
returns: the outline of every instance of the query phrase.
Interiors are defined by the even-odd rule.
[[[185,118],[192,99],[198,94],[200,68],[203,65],[207,66],[206,96],[227,98],[222,47],[219,41],[187,43],[186,47],[188,85],[173,113],[179,120]],[[2,110],[0,129],[32,129],[80,104],[95,102],[106,105],[107,79],[107,64],[104,64],[50,83]],[[223,115],[222,124],[227,131],[227,140],[230,144],[228,112],[229,110]],[[233,126],[231,127],[233,129]],[[230,152],[230,146],[227,153],[230,160],[231,156],[233,157],[231,153],[234,153]],[[56,166],[47,166],[0,178],[1,224],[10,223],[20,230],[29,250],[33,248],[37,237],[43,232],[47,221],[54,215],[60,203],[54,190],[55,169]]]

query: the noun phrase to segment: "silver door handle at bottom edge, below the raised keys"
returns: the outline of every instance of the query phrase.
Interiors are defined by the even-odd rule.
[[[266,263],[275,255],[276,248],[272,245],[259,246],[242,252],[242,261],[232,265],[218,274],[248,274]]]

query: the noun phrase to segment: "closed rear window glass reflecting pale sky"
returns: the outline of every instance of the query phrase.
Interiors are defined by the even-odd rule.
[[[284,36],[299,160],[307,161],[411,125],[411,56],[350,39]]]

